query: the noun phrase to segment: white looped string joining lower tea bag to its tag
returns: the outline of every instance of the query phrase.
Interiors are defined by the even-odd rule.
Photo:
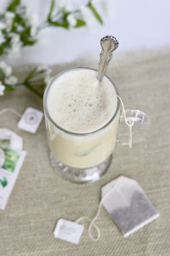
[[[80,217],[78,218],[75,222],[76,223],[80,223],[81,221],[89,221],[90,224],[89,224],[89,228],[88,228],[88,234],[89,234],[89,237],[93,240],[93,241],[98,241],[100,239],[100,236],[101,236],[101,232],[100,232],[100,229],[99,227],[97,226],[97,224],[95,223],[97,221],[97,219],[99,218],[99,215],[101,213],[101,208],[102,208],[102,203],[104,202],[104,200],[107,198],[107,196],[113,191],[115,190],[115,187],[112,187],[112,189],[109,190],[109,192],[107,192],[104,197],[102,197],[102,200],[100,201],[99,203],[99,206],[97,208],[97,213],[96,215],[94,216],[94,218],[91,220],[89,217],[87,216],[83,216],[83,217]],[[94,234],[92,233],[92,229],[95,229],[97,231],[97,237],[94,236]]]

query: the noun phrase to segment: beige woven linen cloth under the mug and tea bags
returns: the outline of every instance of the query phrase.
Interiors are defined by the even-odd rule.
[[[54,73],[75,66],[97,68],[97,61],[82,59],[62,64],[54,67]],[[170,49],[145,56],[121,54],[112,60],[107,74],[115,81],[125,108],[140,109],[150,116],[151,133],[146,142],[133,145],[132,149],[117,145],[112,166],[98,182],[73,184],[53,171],[44,121],[32,135],[17,128],[19,119],[14,114],[0,116],[0,126],[21,135],[27,150],[8,205],[0,210],[1,256],[170,255]],[[19,75],[23,76],[21,68]],[[22,114],[28,106],[42,109],[42,101],[25,88],[0,98],[0,109],[10,107]],[[59,218],[93,218],[102,186],[120,175],[139,182],[160,213],[158,219],[124,238],[102,208],[97,221],[101,230],[98,242],[89,238],[86,221],[78,245],[54,238]]]

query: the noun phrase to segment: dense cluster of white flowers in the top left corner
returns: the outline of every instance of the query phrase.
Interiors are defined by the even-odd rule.
[[[6,12],[0,14],[0,55],[18,56],[22,46],[37,41],[37,29],[19,0],[12,1]]]

